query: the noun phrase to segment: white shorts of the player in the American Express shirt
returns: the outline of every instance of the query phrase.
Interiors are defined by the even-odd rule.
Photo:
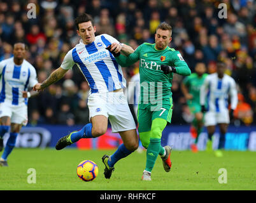
[[[92,93],[88,97],[90,118],[104,115],[110,120],[112,133],[136,129],[123,92]]]

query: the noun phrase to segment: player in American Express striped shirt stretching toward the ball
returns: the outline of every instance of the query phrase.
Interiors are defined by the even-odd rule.
[[[119,133],[124,141],[111,157],[104,155],[102,158],[106,166],[104,176],[110,178],[114,164],[138,148],[136,125],[124,96],[123,88],[126,82],[122,69],[115,57],[106,49],[112,43],[119,44],[119,42],[108,34],[95,36],[96,26],[92,18],[85,13],[78,16],[75,23],[78,36],[82,38],[80,43],[68,52],[59,69],[42,84],[36,84],[34,90],[43,91],[53,82],[59,81],[73,65],[78,66],[90,86],[88,98],[90,123],[80,131],[60,138],[56,149],[61,150],[81,138],[101,136],[106,133],[110,119],[112,132]],[[113,49],[115,49],[114,53],[120,51],[119,46],[112,47],[111,51]]]

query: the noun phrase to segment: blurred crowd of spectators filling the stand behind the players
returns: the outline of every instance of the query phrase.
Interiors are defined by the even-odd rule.
[[[36,4],[36,18],[27,17],[27,4]],[[218,14],[224,3],[227,18]],[[136,49],[154,43],[160,22],[173,27],[171,48],[180,51],[194,72],[203,62],[209,74],[216,70],[218,57],[225,58],[227,74],[238,84],[236,125],[256,124],[256,3],[253,0],[0,0],[0,60],[12,56],[13,43],[24,41],[27,60],[34,65],[38,81],[57,69],[80,37],[74,20],[89,13],[96,35],[110,34]],[[138,73],[138,63],[123,68],[127,82]],[[180,90],[183,77],[174,74],[172,123],[192,121]],[[89,86],[77,67],[56,84],[29,100],[29,124],[86,124],[89,122]],[[182,116],[180,116],[182,115]]]

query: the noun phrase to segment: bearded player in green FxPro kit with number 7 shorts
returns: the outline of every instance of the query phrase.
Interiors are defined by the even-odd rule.
[[[151,172],[158,155],[164,170],[171,170],[171,147],[162,147],[162,131],[171,122],[173,112],[173,73],[190,75],[191,71],[179,51],[169,48],[172,27],[160,23],[155,33],[155,43],[143,43],[135,51],[122,48],[128,56],[116,55],[117,62],[127,67],[139,60],[140,101],[138,107],[138,131],[143,147],[146,148],[146,167],[142,180],[150,181]],[[111,46],[115,51],[115,46]]]

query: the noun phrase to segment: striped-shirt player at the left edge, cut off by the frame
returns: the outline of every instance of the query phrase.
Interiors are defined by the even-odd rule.
[[[27,100],[31,96],[28,89],[38,81],[36,70],[25,60],[26,46],[15,43],[13,57],[0,63],[0,151],[3,150],[3,136],[10,136],[0,158],[0,166],[8,166],[7,158],[15,147],[18,133],[27,125]]]

